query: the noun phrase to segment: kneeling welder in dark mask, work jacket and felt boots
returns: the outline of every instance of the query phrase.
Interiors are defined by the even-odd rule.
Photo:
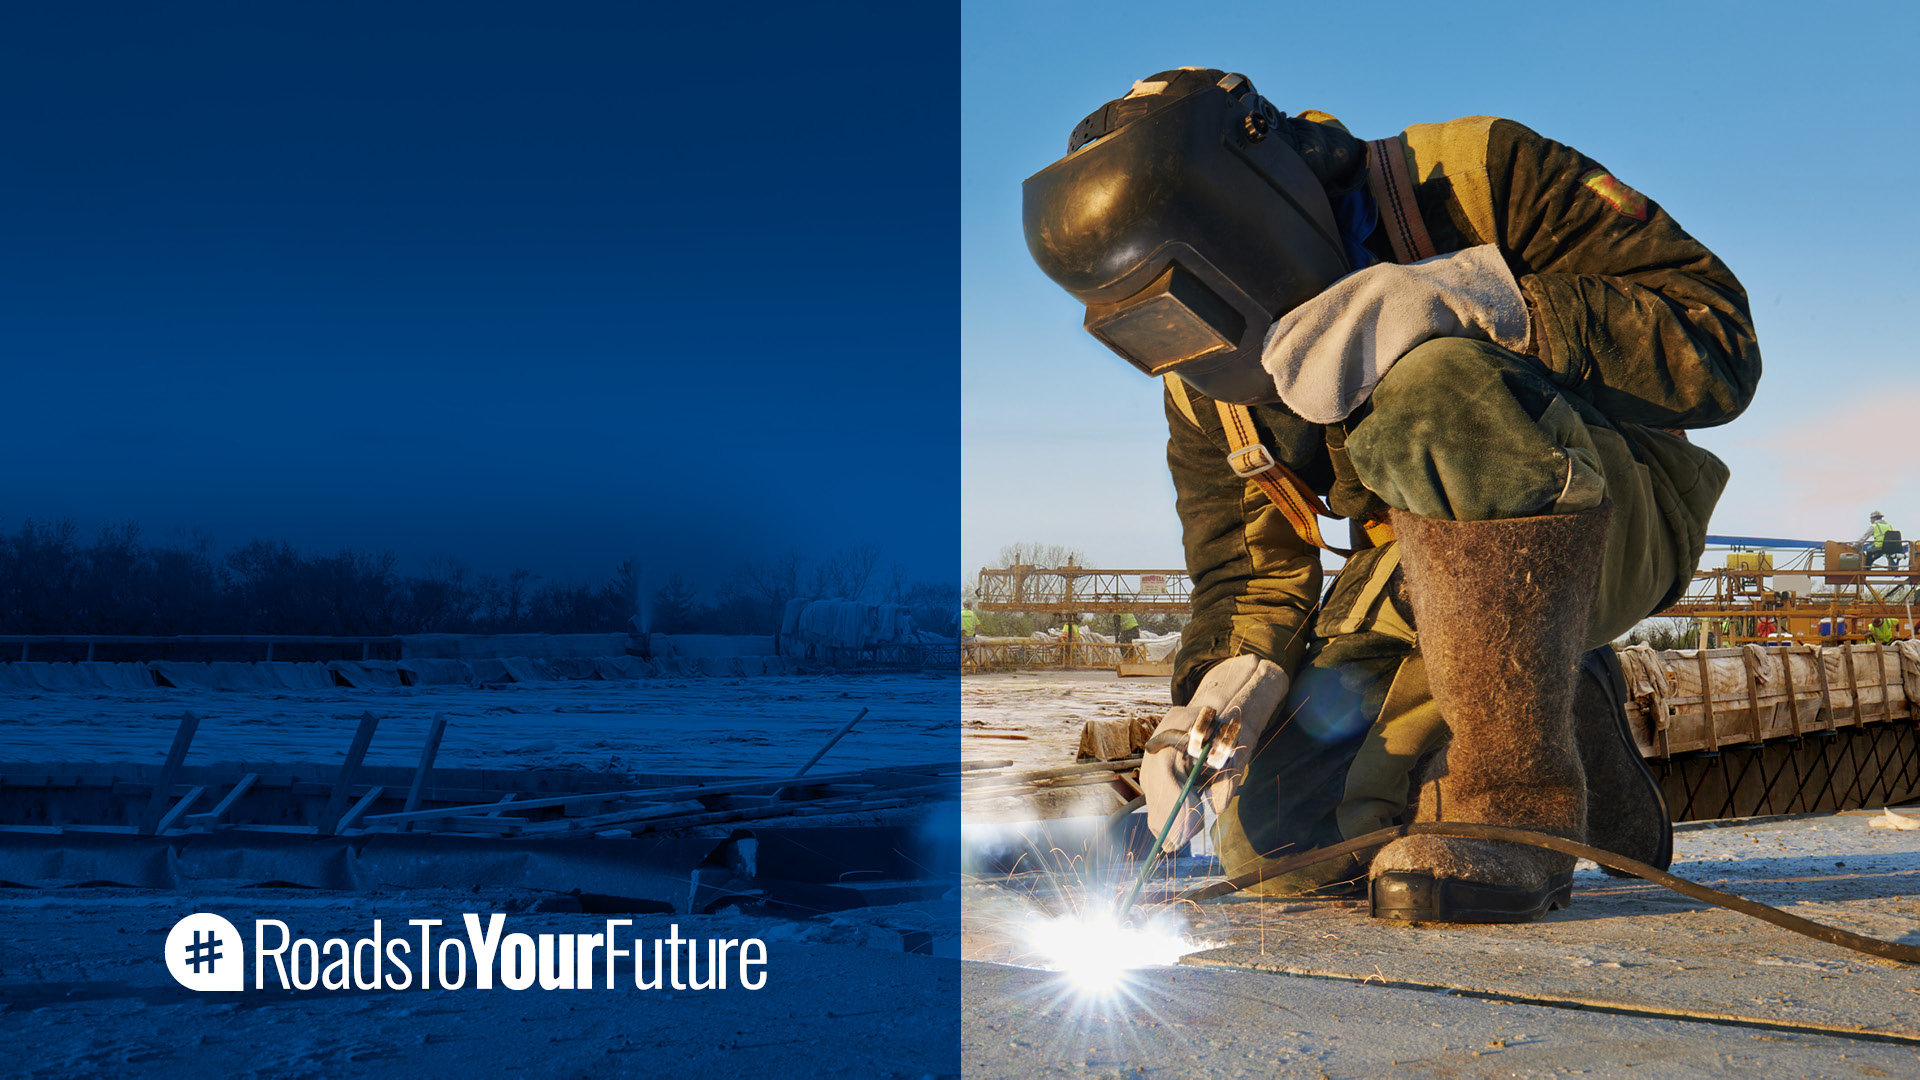
[[[1761,375],[1726,265],[1515,121],[1369,142],[1217,69],[1137,81],[1023,196],[1085,329],[1164,382],[1194,598],[1142,763],[1165,847],[1206,799],[1229,874],[1407,821],[1665,867],[1607,642],[1680,596],[1726,484],[1684,434]],[[1238,746],[1175,805],[1202,717]],[[1571,880],[1553,851],[1405,836],[1256,888],[1519,922]]]

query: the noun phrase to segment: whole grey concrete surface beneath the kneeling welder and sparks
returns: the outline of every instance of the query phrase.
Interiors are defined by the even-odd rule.
[[[1920,944],[1920,832],[1870,817],[1682,828],[1674,872]],[[1023,934],[1035,909],[1110,903],[1123,886],[1083,857],[970,886],[962,955],[1044,965]],[[1190,917],[1187,947],[1179,970],[1133,972],[1106,1011],[1056,974],[970,965],[968,1074],[1920,1076],[1920,969],[1590,865],[1574,905],[1536,924],[1411,928],[1359,901],[1235,897]]]

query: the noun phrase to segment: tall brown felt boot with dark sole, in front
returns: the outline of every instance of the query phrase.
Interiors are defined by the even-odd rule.
[[[1417,817],[1584,840],[1572,696],[1613,505],[1392,519],[1427,678],[1452,732]],[[1373,859],[1373,917],[1526,922],[1569,903],[1572,863],[1523,844],[1407,836]]]

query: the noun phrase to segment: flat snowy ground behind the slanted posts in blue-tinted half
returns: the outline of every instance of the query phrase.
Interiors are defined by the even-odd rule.
[[[956,678],[943,673],[639,678],[311,692],[119,690],[0,698],[0,761],[159,763],[182,713],[188,763],[330,763],[363,713],[380,717],[369,765],[415,765],[434,715],[445,769],[741,774],[799,769],[862,707],[816,769],[950,761]],[[703,749],[687,753],[687,744]]]

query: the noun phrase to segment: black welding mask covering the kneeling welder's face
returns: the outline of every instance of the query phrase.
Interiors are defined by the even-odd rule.
[[[1027,250],[1087,306],[1087,332],[1213,400],[1279,400],[1260,365],[1267,327],[1348,273],[1284,119],[1242,75],[1162,71],[1027,177]]]

